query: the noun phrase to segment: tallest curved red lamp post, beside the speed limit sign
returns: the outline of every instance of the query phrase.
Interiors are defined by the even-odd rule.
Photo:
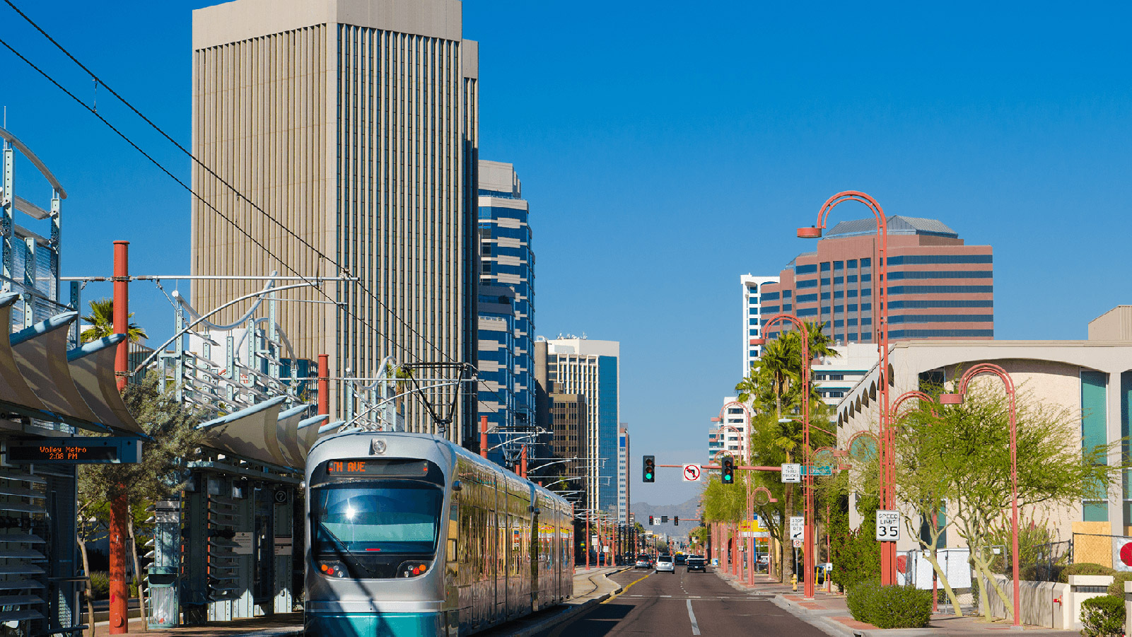
[[[881,436],[877,445],[880,454],[880,496],[881,506],[891,510],[894,506],[892,482],[892,431],[889,412],[889,226],[884,216],[884,209],[876,199],[859,190],[846,190],[838,192],[826,199],[822,209],[817,213],[817,225],[813,227],[799,227],[798,236],[801,239],[821,239],[822,231],[825,230],[825,222],[830,212],[846,201],[857,201],[868,206],[876,217],[876,278],[874,289],[876,290],[877,303],[877,326],[876,345],[880,350],[880,389],[881,395]],[[893,542],[884,542],[881,545],[881,584],[891,585],[897,582],[897,545]]]

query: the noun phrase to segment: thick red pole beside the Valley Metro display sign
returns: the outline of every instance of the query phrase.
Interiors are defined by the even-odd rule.
[[[129,334],[129,241],[114,241],[114,334]],[[129,338],[114,353],[114,376],[118,390],[126,389],[129,378]],[[129,627],[129,588],[126,586],[126,528],[130,506],[125,493],[112,496],[110,502],[110,634],[125,635]]]

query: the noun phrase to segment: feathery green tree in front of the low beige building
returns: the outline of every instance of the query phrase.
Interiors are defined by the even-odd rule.
[[[1082,449],[1080,418],[1019,391],[1019,507],[1062,507],[1107,499],[1126,464],[1106,464],[1122,441]],[[974,570],[1007,599],[992,569],[995,531],[1011,509],[1007,402],[992,382],[974,382],[961,405],[920,410],[895,429],[897,489],[915,509],[909,527],[940,510],[971,550]],[[917,534],[918,535],[918,534]],[[985,586],[983,608],[989,613]],[[1011,612],[1012,609],[1007,609]]]

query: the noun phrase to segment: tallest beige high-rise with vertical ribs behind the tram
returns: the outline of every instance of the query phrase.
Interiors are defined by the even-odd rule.
[[[215,172],[192,166],[192,274],[357,277],[280,293],[294,355],[329,354],[333,377],[374,378],[386,355],[474,363],[479,50],[461,2],[235,0],[192,12],[192,149]],[[192,301],[263,285],[195,282]],[[332,384],[335,415],[349,396]],[[406,405],[410,430],[436,430]]]

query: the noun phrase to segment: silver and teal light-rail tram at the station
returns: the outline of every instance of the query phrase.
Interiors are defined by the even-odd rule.
[[[331,436],[306,485],[308,636],[469,635],[573,594],[571,505],[447,440]]]

